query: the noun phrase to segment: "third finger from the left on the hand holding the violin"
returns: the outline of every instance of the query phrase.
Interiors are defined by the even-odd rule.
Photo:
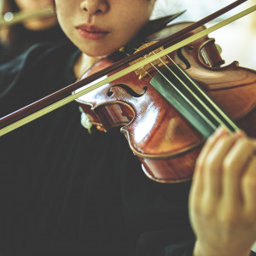
[[[245,172],[247,162],[254,150],[253,141],[237,137],[236,143],[224,159],[223,195],[225,204],[229,204],[230,207],[236,207],[242,203],[241,175]]]

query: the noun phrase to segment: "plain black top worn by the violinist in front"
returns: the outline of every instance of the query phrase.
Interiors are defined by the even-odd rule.
[[[73,83],[78,54],[41,44],[2,65],[1,116]],[[148,179],[119,129],[89,134],[76,102],[4,135],[0,150],[3,255],[191,255],[190,183]]]

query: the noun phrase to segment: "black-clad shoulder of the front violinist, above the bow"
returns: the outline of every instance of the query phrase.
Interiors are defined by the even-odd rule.
[[[0,66],[0,107],[7,112],[60,90],[73,81],[79,50],[71,44],[35,44]],[[15,102],[9,106],[8,102]],[[14,108],[14,109],[12,109]],[[5,114],[5,113],[3,113]]]

